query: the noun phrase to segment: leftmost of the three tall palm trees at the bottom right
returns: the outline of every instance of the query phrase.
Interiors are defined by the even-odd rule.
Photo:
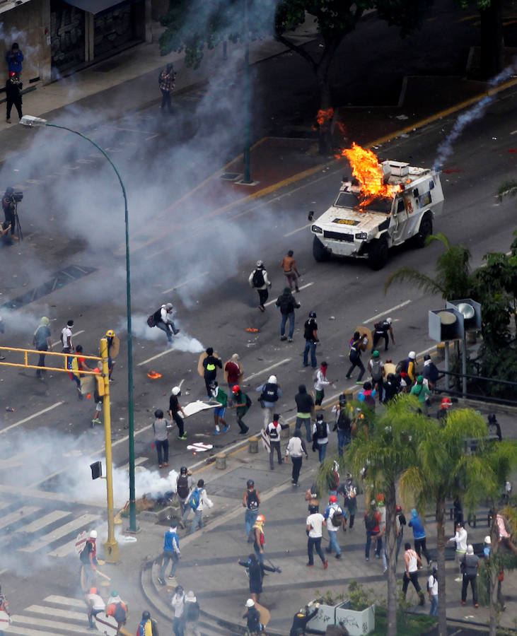
[[[414,396],[399,396],[384,413],[371,413],[359,420],[349,450],[352,471],[367,467],[368,482],[384,494],[386,507],[386,556],[388,563],[388,636],[397,634],[395,488],[400,475],[414,464],[420,432],[425,430]]]

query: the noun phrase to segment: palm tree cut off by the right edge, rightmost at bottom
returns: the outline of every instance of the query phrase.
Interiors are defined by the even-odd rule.
[[[470,488],[465,493],[465,504],[469,509],[474,509],[481,501],[486,500],[493,514],[490,530],[492,550],[489,560],[485,562],[489,570],[490,582],[490,636],[496,636],[497,632],[496,590],[499,568],[504,565],[505,569],[508,570],[517,565],[517,560],[513,555],[510,557],[504,553],[504,550],[500,549],[496,529],[496,514],[500,510],[501,490],[516,466],[517,443],[499,442],[490,444],[480,454],[472,457],[466,467],[467,482]]]

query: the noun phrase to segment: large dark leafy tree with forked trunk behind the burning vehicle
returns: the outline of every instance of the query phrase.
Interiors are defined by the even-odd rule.
[[[185,64],[195,69],[205,45],[212,49],[226,39],[238,42],[248,37],[274,37],[301,55],[315,75],[320,98],[316,117],[320,153],[328,154],[332,149],[329,120],[333,114],[329,71],[339,45],[368,9],[376,8],[388,23],[400,26],[404,36],[422,25],[429,4],[431,0],[170,0],[168,12],[161,18],[166,28],[160,37],[160,51],[166,55],[185,50]],[[245,6],[249,11],[248,28]],[[316,54],[286,35],[303,24],[307,14],[316,23],[323,44]]]

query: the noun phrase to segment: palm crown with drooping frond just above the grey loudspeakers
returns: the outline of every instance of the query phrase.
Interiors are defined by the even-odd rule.
[[[470,252],[463,245],[451,245],[444,234],[434,234],[427,238],[440,241],[446,251],[436,259],[436,276],[431,278],[412,267],[401,267],[388,276],[384,285],[384,293],[395,281],[397,283],[414,283],[427,294],[440,294],[442,298],[468,298],[472,281],[470,276]]]

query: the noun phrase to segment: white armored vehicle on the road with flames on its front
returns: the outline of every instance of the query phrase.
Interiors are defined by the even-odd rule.
[[[398,161],[379,163],[375,153],[355,143],[343,155],[353,177],[343,178],[334,204],[310,226],[316,261],[335,254],[367,259],[377,270],[394,245],[411,241],[424,247],[443,207],[438,172]]]

